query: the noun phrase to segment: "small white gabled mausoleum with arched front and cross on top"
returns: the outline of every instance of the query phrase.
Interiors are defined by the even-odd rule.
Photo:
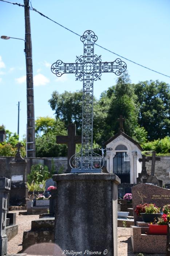
[[[121,183],[137,183],[138,173],[141,173],[142,165],[139,158],[142,157],[142,147],[140,144],[124,133],[123,128],[116,135],[105,142],[106,166],[109,173],[116,174]]]

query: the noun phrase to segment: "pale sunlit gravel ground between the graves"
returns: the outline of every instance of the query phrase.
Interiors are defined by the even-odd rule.
[[[39,219],[39,215],[19,215],[19,211],[10,212],[16,212],[16,224],[19,225],[19,230],[18,234],[8,242],[8,253],[20,253],[22,250],[23,232],[31,229],[31,221]],[[118,256],[137,256],[138,254],[133,253],[132,250],[130,228],[118,227]],[[160,254],[147,253],[143,253],[143,255],[160,256]],[[161,256],[165,256],[165,254],[161,254]]]

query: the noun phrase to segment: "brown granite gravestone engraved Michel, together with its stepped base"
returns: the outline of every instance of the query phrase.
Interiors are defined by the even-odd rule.
[[[166,253],[166,235],[151,235],[149,223],[142,222],[135,208],[139,204],[153,203],[163,207],[170,202],[170,189],[150,184],[138,184],[132,188],[134,226],[131,226],[131,242],[134,253]],[[162,210],[162,209],[161,209]]]

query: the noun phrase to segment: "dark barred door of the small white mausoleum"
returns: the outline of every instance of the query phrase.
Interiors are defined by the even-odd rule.
[[[116,152],[113,173],[120,178],[121,183],[130,183],[130,159],[126,152]]]

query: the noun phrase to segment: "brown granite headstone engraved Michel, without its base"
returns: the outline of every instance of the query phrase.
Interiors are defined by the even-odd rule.
[[[134,223],[136,223],[136,221],[141,221],[141,218],[135,212],[136,206],[138,204],[153,203],[162,208],[165,204],[170,203],[170,189],[160,188],[150,184],[139,184],[132,187],[132,198]]]

